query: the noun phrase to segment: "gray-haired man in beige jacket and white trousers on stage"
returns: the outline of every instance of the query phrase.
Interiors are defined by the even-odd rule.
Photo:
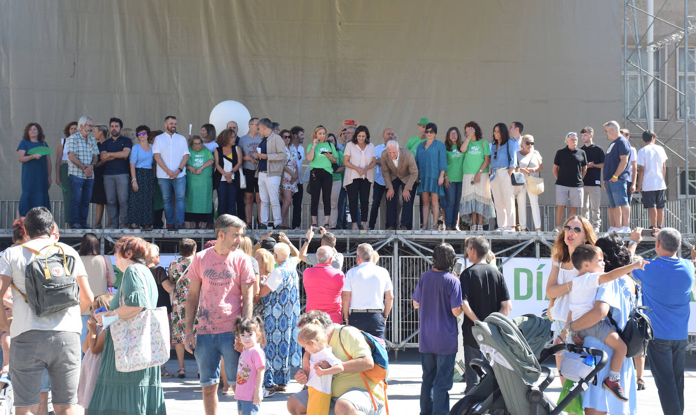
[[[280,218],[280,179],[283,177],[283,167],[287,158],[287,147],[283,138],[273,132],[273,122],[268,118],[259,120],[261,143],[253,153],[256,174],[261,198],[261,219],[259,229],[280,229],[283,219]],[[273,211],[273,223],[269,222],[269,213]],[[268,225],[267,225],[268,224]]]

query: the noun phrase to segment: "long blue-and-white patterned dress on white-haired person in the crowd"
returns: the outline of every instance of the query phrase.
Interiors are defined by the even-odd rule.
[[[299,277],[290,261],[274,270],[282,272],[283,282],[275,291],[262,298],[266,331],[266,374],[264,386],[290,383],[291,366],[302,362],[301,348],[297,344],[297,320],[300,316]]]

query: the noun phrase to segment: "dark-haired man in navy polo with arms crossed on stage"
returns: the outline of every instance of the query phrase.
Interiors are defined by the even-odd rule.
[[[123,122],[119,118],[109,120],[111,138],[104,140],[100,154],[104,162],[104,191],[111,229],[124,229],[128,225],[129,156],[133,143],[121,136],[122,128]]]

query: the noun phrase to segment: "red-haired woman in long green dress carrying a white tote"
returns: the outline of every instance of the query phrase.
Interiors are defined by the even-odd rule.
[[[118,314],[119,318],[128,318],[157,304],[155,278],[144,265],[150,256],[150,244],[143,238],[124,236],[113,247],[113,252],[123,278],[111,300],[111,311],[97,314],[99,323],[105,316]],[[121,299],[123,305],[120,305]],[[166,414],[159,366],[134,372],[117,371],[111,330],[107,331],[99,377],[88,408],[90,415]]]

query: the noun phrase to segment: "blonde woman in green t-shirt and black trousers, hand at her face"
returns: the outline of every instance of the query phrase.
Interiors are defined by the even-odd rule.
[[[310,214],[312,226],[317,226],[319,213],[319,196],[324,202],[324,223],[330,223],[331,215],[331,186],[333,184],[333,167],[338,159],[335,157],[336,147],[326,141],[326,127],[317,125],[312,133],[312,145],[307,148],[307,160],[310,161],[309,187],[312,194]]]

